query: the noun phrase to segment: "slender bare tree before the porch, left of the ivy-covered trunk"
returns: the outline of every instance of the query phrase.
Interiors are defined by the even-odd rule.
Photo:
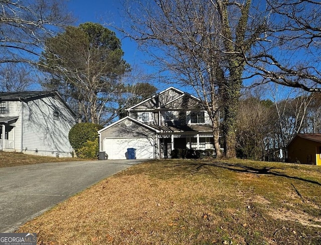
[[[212,120],[215,150],[221,156],[218,90],[224,76],[219,58],[222,38],[216,25],[218,9],[202,0],[138,1],[130,5],[140,10],[127,8],[130,20],[134,20],[134,32],[127,34],[145,51],[151,51],[154,59],[150,61],[157,63],[161,72],[171,71],[170,82],[194,88]]]

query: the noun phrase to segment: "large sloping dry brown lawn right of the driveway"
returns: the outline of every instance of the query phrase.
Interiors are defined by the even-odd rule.
[[[317,172],[244,160],[145,162],[19,232],[37,232],[39,244],[321,244]]]

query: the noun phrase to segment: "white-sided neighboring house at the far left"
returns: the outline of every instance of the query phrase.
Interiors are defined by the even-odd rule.
[[[75,117],[56,91],[0,92],[0,150],[71,157]]]

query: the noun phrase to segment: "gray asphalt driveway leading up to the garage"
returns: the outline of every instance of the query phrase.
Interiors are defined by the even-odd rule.
[[[12,232],[55,204],[141,160],[41,163],[0,168],[0,232]]]

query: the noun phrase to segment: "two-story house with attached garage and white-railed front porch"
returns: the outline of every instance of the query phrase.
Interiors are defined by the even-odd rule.
[[[128,116],[98,131],[108,159],[167,158],[175,148],[214,148],[213,130],[201,100],[175,87],[126,109]]]

